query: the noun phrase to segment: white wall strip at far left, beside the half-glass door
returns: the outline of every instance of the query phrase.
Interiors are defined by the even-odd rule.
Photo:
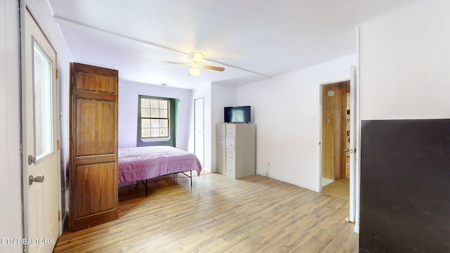
[[[18,1],[0,3],[0,238],[23,238]],[[6,120],[5,120],[6,119]],[[0,245],[21,252],[22,245]]]

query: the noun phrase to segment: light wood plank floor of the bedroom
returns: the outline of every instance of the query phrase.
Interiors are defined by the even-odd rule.
[[[54,252],[358,252],[348,200],[264,176],[165,176],[119,190],[119,219]]]

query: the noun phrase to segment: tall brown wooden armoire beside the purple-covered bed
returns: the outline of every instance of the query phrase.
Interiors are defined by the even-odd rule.
[[[70,63],[70,231],[118,217],[117,98],[117,70]]]

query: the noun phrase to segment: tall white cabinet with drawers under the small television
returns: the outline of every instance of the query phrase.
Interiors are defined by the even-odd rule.
[[[233,179],[255,174],[255,124],[217,125],[217,172]]]

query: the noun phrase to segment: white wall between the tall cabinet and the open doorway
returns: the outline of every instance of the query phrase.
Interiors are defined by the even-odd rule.
[[[253,108],[257,174],[319,190],[320,87],[349,79],[350,65],[356,55],[238,87],[237,104]]]

